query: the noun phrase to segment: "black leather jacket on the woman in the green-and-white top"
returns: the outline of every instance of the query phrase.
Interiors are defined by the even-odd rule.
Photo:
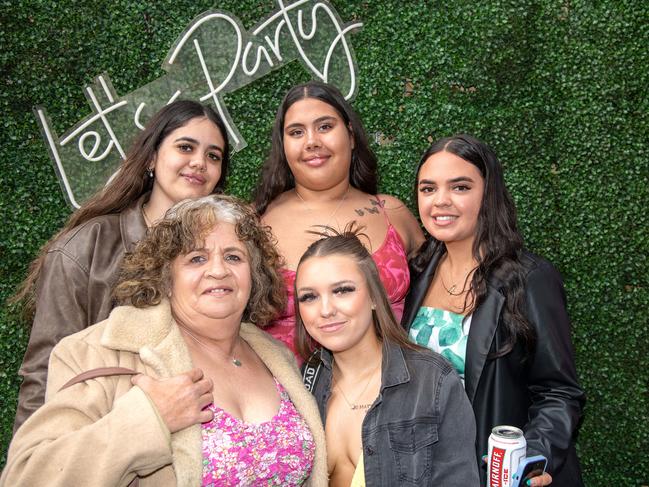
[[[444,252],[440,246],[428,266],[421,273],[412,274],[402,319],[406,330],[424,300]],[[524,431],[528,455],[547,457],[552,487],[582,486],[574,440],[585,395],[577,381],[563,282],[545,259],[524,252],[521,261],[528,270],[526,316],[537,334],[533,357],[524,361],[523,345],[517,343],[509,354],[487,358],[504,341],[505,297],[494,279],[488,283],[486,299],[473,312],[469,330],[465,388],[475,412],[476,456],[482,485],[486,484],[486,469],[481,457],[487,453],[491,429],[507,424]]]

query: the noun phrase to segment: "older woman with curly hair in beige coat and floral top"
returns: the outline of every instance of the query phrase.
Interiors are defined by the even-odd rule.
[[[285,305],[279,263],[236,198],[172,207],[126,257],[120,306],[52,351],[0,485],[325,486],[315,401],[259,328]]]

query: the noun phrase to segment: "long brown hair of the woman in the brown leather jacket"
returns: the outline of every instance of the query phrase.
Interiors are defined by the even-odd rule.
[[[171,132],[186,125],[190,120],[203,117],[208,118],[219,128],[225,141],[223,159],[221,160],[221,177],[212,192],[219,193],[223,190],[230,164],[230,147],[228,132],[221,117],[211,107],[191,100],[178,100],[165,106],[153,116],[137,136],[115,177],[83,203],[81,208],[72,213],[63,228],[41,247],[38,256],[29,267],[27,277],[16,294],[9,299],[10,303],[23,305],[26,319],[31,318],[35,311],[36,282],[43,268],[45,256],[54,242],[72,228],[97,216],[122,212],[144,193],[151,191],[154,178],[147,175],[147,170],[162,141]]]

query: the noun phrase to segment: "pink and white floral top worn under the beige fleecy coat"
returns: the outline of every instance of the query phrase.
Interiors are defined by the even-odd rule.
[[[311,474],[315,443],[306,422],[275,379],[280,406],[264,423],[246,423],[213,404],[204,423],[203,486],[302,485]]]

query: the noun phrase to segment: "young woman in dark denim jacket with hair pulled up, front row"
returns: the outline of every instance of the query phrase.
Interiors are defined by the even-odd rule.
[[[327,230],[300,259],[295,296],[330,485],[479,485],[475,421],[457,373],[408,342],[354,224]]]

